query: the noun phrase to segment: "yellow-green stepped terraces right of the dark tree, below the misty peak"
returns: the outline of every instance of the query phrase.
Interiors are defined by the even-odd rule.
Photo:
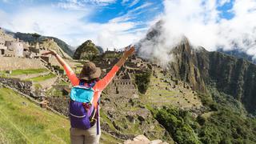
[[[191,107],[201,105],[200,100],[192,93],[193,90],[188,90],[180,84],[175,85],[176,88],[172,88],[174,82],[171,82],[171,86],[168,82],[165,82],[166,80],[170,81],[170,78],[166,78],[166,75],[163,75],[160,70],[155,70],[155,74],[158,78],[155,78],[154,75],[151,76],[150,86],[145,94],[146,97],[142,97],[144,102],[155,106]]]

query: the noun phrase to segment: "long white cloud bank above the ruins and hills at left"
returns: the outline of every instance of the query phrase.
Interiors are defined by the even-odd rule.
[[[56,6],[34,6],[17,13],[0,10],[0,26],[14,32],[38,33],[61,38],[72,46],[87,39],[103,48],[122,48],[142,37],[142,30],[133,30],[137,22],[90,22],[94,7],[86,10],[63,10]]]

